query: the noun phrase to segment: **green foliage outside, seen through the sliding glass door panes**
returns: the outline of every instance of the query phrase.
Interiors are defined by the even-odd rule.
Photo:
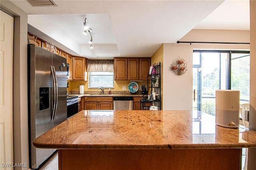
[[[240,91],[240,99],[249,99],[250,93],[250,57],[240,57],[241,54],[232,54],[231,65],[231,89]],[[245,55],[245,54],[242,54]],[[238,58],[236,58],[238,57]],[[193,85],[197,89],[197,73],[194,73]],[[215,97],[215,91],[219,89],[219,69],[214,68],[212,72],[202,77],[202,108],[201,111],[215,116],[215,99],[204,97]],[[242,102],[242,101],[241,101]],[[193,106],[196,108],[196,106]]]

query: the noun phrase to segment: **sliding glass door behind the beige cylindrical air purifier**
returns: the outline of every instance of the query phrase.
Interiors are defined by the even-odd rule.
[[[242,57],[248,51],[197,51],[193,54],[193,110],[215,115],[215,91],[236,89],[246,100],[249,87],[250,57]],[[242,65],[241,62],[243,62]],[[249,65],[249,66],[248,66]],[[248,68],[247,68],[248,66]],[[241,72],[242,71],[242,72]],[[243,84],[247,83],[244,87]],[[247,86],[248,85],[248,86]]]

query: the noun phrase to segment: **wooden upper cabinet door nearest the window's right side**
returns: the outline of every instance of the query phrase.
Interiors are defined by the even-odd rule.
[[[127,80],[127,58],[114,59],[115,80]]]

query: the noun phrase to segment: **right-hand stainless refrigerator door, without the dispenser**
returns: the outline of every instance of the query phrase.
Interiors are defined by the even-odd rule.
[[[52,53],[52,66],[55,68],[57,79],[57,109],[53,121],[53,127],[56,127],[67,119],[67,67],[66,59],[60,55]]]

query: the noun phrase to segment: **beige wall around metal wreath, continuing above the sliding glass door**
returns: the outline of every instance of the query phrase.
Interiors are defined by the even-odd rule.
[[[190,42],[250,42],[250,31],[233,30],[191,30],[180,41]],[[191,110],[193,98],[193,49],[243,49],[246,44],[213,43],[164,43],[163,65],[163,110]],[[175,75],[170,71],[170,64],[176,58],[187,62],[184,75]]]

